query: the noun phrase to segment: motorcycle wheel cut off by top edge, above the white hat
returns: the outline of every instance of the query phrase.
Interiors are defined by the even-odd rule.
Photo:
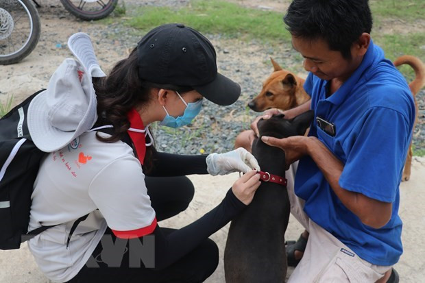
[[[85,21],[103,19],[117,6],[118,0],[60,0],[64,8]]]

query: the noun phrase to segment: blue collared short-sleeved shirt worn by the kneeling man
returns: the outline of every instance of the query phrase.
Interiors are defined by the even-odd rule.
[[[393,204],[391,220],[380,229],[363,224],[348,210],[310,157],[300,160],[295,194],[305,199],[304,211],[364,260],[392,265],[402,254],[402,221],[398,216],[399,186],[409,147],[415,105],[404,77],[370,43],[356,71],[332,95],[330,82],[310,73],[304,89],[315,116],[335,124],[335,136],[317,127],[316,136],[344,164],[339,186]]]

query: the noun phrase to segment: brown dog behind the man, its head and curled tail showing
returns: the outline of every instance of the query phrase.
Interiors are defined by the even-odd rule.
[[[260,94],[252,99],[252,101],[248,103],[248,106],[256,112],[262,112],[270,108],[288,110],[308,101],[310,96],[304,91],[304,79],[282,69],[272,58],[270,58],[270,60],[271,64],[274,66],[274,72],[265,80]],[[408,64],[415,71],[415,79],[409,84],[413,99],[415,99],[416,94],[425,85],[424,64],[420,59],[409,55],[400,56],[394,61],[395,66],[400,66],[402,64]],[[417,121],[419,109],[416,99],[415,106]],[[404,164],[402,181],[407,181],[410,178],[412,155],[412,147],[410,146],[406,163]]]

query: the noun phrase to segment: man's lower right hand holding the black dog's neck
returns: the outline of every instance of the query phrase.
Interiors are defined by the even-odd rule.
[[[261,140],[265,144],[278,147],[285,152],[285,164],[287,167],[285,170],[288,170],[289,165],[308,154],[308,143],[311,138],[308,138],[308,136],[290,136],[289,138],[262,136]]]

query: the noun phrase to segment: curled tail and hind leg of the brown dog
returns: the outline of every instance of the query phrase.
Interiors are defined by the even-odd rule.
[[[416,94],[419,93],[419,90],[425,86],[425,66],[424,66],[424,63],[422,63],[422,61],[419,60],[419,58],[416,58],[410,55],[400,56],[399,58],[396,59],[396,61],[394,61],[394,66],[400,66],[402,64],[408,64],[415,71],[415,79],[413,79],[413,82],[409,84],[409,88],[413,94],[413,99],[415,100],[415,108],[416,108],[415,125],[416,125],[417,114],[419,112],[419,107],[417,106],[417,101],[416,101]],[[413,125],[413,129],[415,129],[415,125]],[[409,151],[407,152],[406,162],[404,163],[402,181],[407,181],[410,178],[412,156],[413,156],[413,151],[412,151],[412,143],[411,143],[411,145],[409,146]]]

